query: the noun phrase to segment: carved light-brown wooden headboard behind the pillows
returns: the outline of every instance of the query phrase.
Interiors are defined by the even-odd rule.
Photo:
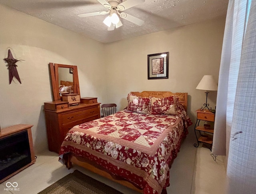
[[[141,97],[157,97],[157,98],[165,98],[168,96],[178,96],[179,98],[179,103],[182,104],[187,110],[188,106],[188,93],[172,93],[172,92],[158,92],[158,91],[143,91],[143,92],[130,92],[131,94],[134,94],[136,96],[141,96]]]

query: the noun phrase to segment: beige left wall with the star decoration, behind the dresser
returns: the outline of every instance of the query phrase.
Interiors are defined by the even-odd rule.
[[[52,101],[48,63],[78,66],[81,96],[97,96],[104,101],[102,84],[105,63],[103,44],[0,5],[0,125],[33,124],[35,152],[48,149],[44,102]],[[8,70],[2,60],[12,48],[20,84],[9,85]]]

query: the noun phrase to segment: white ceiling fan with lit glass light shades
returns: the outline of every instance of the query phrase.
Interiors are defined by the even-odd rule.
[[[97,0],[102,4],[105,8],[108,9],[108,11],[101,11],[101,12],[92,12],[92,13],[86,13],[86,14],[78,14],[80,18],[89,17],[89,16],[98,16],[98,15],[105,15],[109,14],[105,20],[103,21],[106,26],[108,26],[108,31],[114,30],[115,27],[119,28],[122,26],[122,22],[120,21],[118,15],[120,18],[123,18],[125,20],[128,20],[134,24],[137,24],[138,26],[141,26],[144,21],[136,18],[130,14],[127,14],[125,12],[122,12],[124,10],[127,10],[133,6],[136,6],[140,3],[144,3],[145,0],[126,0],[122,2],[122,0]]]

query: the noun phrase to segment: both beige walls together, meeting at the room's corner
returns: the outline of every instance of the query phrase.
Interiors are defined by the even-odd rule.
[[[203,75],[218,79],[224,19],[193,24],[111,44],[80,36],[48,22],[0,5],[0,56],[12,48],[22,84],[8,83],[6,63],[0,62],[0,125],[33,124],[36,153],[48,149],[44,102],[52,101],[48,63],[78,66],[81,96],[101,103],[126,105],[130,91],[188,92],[188,113],[205,102],[196,90]],[[170,52],[169,79],[147,79],[147,55]],[[216,92],[208,97],[215,107]],[[190,133],[193,134],[193,133]]]

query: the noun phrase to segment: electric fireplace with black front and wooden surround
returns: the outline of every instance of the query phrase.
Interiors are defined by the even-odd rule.
[[[15,125],[0,132],[0,183],[35,162],[31,125]]]

